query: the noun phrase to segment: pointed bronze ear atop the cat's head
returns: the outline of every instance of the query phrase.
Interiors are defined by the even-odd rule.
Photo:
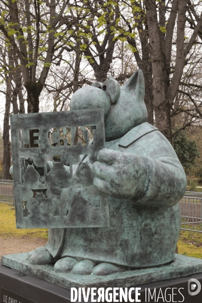
[[[136,70],[134,74],[128,79],[126,84],[123,86],[128,92],[140,95],[142,101],[144,100],[144,77],[141,70]]]

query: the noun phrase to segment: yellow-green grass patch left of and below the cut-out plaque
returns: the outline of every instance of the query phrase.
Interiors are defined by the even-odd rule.
[[[16,229],[15,210],[12,205],[0,203],[0,236],[47,239],[47,229]]]

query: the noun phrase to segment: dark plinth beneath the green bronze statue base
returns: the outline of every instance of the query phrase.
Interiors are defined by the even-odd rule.
[[[143,303],[165,302],[165,293],[168,302],[183,301],[184,303],[201,303],[202,291],[195,296],[188,294],[188,280],[190,278],[197,279],[202,285],[202,273],[200,273],[183,278],[152,282],[138,286],[133,285],[133,287],[141,288],[139,291],[140,296],[138,298]],[[155,296],[153,299],[149,296],[148,299],[148,289],[151,294],[154,294],[156,289],[156,299]],[[179,293],[179,289],[183,296]],[[160,296],[158,299],[159,293],[160,296],[161,293],[163,294],[164,299],[160,298]],[[171,299],[169,296],[170,294]],[[135,300],[135,291],[132,291],[131,298]],[[15,303],[69,303],[71,302],[71,295],[69,289],[53,285],[41,279],[37,279],[17,270],[0,265],[0,302],[5,303],[6,299],[7,303],[11,303],[11,299],[13,299],[13,302],[15,299]],[[81,302],[84,302],[83,297],[81,297]],[[88,302],[92,302],[91,298],[88,299]]]

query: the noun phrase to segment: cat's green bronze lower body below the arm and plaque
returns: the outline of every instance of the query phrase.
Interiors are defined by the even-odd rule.
[[[72,256],[129,267],[174,260],[180,231],[179,205],[141,208],[109,196],[110,227],[66,228],[61,257]]]

